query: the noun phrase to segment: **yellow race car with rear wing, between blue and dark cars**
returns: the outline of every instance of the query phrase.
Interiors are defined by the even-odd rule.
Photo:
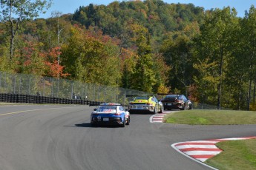
[[[130,113],[153,113],[163,112],[163,103],[158,101],[154,95],[127,95],[133,97],[128,105]]]

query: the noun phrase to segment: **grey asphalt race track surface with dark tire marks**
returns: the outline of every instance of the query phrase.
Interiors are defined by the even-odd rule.
[[[0,106],[0,170],[201,170],[210,169],[173,143],[256,135],[256,125],[189,126],[150,123],[91,127],[93,107]]]

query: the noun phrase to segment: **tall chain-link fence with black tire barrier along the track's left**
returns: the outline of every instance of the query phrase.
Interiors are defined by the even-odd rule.
[[[14,103],[128,103],[126,95],[147,94],[134,89],[85,84],[61,78],[0,72],[2,102]]]

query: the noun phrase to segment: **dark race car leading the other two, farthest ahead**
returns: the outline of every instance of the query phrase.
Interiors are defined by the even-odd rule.
[[[193,103],[185,95],[166,95],[162,100],[164,109],[193,109]]]

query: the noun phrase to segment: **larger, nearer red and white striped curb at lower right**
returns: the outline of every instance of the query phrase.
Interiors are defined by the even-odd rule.
[[[226,140],[246,139],[256,139],[256,136],[180,142],[172,144],[171,147],[177,150],[177,152],[184,154],[186,157],[203,163],[209,158],[214,157],[216,154],[220,154],[220,152],[222,152],[221,149],[218,149],[217,146],[215,146],[216,143]]]

